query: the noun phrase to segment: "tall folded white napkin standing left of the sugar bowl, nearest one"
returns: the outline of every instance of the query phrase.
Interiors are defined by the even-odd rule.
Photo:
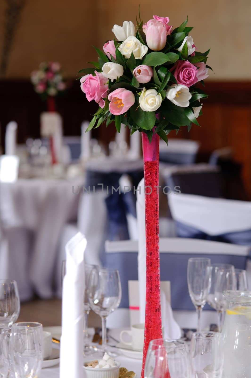
[[[84,250],[86,239],[78,232],[66,244],[63,279],[60,378],[82,378],[84,330]]]

